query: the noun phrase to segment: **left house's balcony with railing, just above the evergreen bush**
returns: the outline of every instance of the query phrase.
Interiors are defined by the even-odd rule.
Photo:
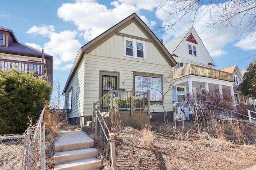
[[[34,71],[34,76],[36,77],[46,75],[44,63],[0,59],[0,70],[5,71],[11,68],[28,73]]]

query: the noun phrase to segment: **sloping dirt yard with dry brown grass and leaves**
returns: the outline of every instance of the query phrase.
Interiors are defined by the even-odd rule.
[[[243,138],[224,132],[209,135],[196,132],[194,121],[153,124],[151,133],[126,127],[117,134],[118,170],[242,170],[256,164],[256,124],[243,124]],[[227,131],[226,129],[224,129]],[[250,140],[249,140],[250,138]],[[251,143],[252,144],[252,143]],[[103,163],[104,164],[104,163]],[[107,170],[109,166],[102,169]]]

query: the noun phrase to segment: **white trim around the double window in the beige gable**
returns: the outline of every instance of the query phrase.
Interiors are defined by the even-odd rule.
[[[132,56],[131,55],[126,55],[126,40],[127,41],[132,41]],[[137,43],[142,43],[142,48],[143,48],[143,58],[142,57],[138,57],[137,56]],[[141,41],[138,39],[132,39],[132,38],[128,38],[128,37],[124,37],[124,56],[126,57],[133,57],[136,59],[144,59],[146,60],[146,42],[145,41]]]

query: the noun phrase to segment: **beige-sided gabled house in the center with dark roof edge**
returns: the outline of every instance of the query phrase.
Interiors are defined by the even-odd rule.
[[[68,118],[84,125],[84,118],[92,114],[92,101],[112,88],[150,90],[150,112],[162,113],[162,94],[168,90],[163,79],[175,65],[168,50],[134,13],[81,47],[63,91]],[[171,90],[164,105],[172,111]]]

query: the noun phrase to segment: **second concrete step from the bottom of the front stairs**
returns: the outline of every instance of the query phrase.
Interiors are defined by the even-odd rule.
[[[55,164],[60,164],[62,162],[69,162],[73,160],[79,160],[84,158],[96,158],[98,150],[96,148],[86,148],[79,150],[69,150],[63,152],[56,152],[54,154]]]

